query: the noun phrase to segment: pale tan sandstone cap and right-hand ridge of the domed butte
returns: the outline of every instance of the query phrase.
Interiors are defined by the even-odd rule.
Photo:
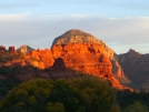
[[[52,47],[57,44],[78,44],[78,43],[100,44],[102,47],[102,50],[101,47],[100,48],[98,47],[99,49],[98,52],[99,53],[102,52],[103,55],[110,59],[113,75],[120,81],[120,83],[130,83],[130,81],[125,77],[123,70],[119,65],[118,55],[115,53],[115,51],[112,51],[109,47],[107,47],[105,42],[98,40],[96,37],[89,33],[82,32],[80,30],[69,30],[62,35],[56,38],[52,43]],[[80,52],[83,52],[83,48],[82,50],[80,49]],[[92,52],[95,48],[91,48]]]

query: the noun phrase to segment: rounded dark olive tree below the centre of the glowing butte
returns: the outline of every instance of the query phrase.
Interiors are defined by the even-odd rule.
[[[113,91],[107,81],[97,77],[82,77],[69,80],[79,98],[79,112],[110,112],[115,102]]]

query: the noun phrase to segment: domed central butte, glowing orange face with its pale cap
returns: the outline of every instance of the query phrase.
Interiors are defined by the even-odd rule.
[[[121,82],[122,79],[129,82],[117,62],[117,54],[89,33],[67,31],[54,39],[51,51],[53,58],[61,58],[67,68],[108,79],[113,86],[123,88],[115,75]]]

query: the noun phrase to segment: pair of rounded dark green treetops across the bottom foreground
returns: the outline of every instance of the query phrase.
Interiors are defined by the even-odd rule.
[[[13,88],[0,102],[1,112],[119,112],[113,91],[96,77],[37,79]]]

